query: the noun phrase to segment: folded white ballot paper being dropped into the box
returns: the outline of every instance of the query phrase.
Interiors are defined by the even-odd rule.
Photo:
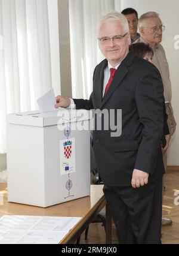
[[[54,89],[50,89],[50,91],[38,98],[37,103],[42,113],[56,110],[54,107],[56,104]]]

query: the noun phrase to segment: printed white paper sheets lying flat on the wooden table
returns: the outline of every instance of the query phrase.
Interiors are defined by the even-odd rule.
[[[4,215],[0,244],[57,244],[81,218]]]

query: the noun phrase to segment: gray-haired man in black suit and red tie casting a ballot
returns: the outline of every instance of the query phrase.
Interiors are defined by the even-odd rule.
[[[76,109],[114,110],[115,124],[117,110],[122,109],[120,136],[112,137],[112,129],[104,126],[94,130],[94,153],[104,195],[119,243],[161,243],[161,75],[155,66],[129,52],[131,38],[123,14],[112,12],[101,18],[98,43],[106,59],[94,70],[90,100],[57,96],[55,107],[75,103]]]

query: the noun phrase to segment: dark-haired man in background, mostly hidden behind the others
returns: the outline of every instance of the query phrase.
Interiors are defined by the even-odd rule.
[[[124,14],[128,20],[131,43],[134,43],[140,37],[140,34],[137,33],[138,13],[133,8],[126,8],[121,13]]]

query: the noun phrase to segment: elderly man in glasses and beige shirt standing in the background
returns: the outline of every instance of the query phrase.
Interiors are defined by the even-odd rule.
[[[162,32],[165,31],[162,21],[158,13],[149,11],[144,13],[138,20],[138,26],[141,37],[135,41],[135,43],[147,43],[153,49],[152,63],[158,68],[161,73],[163,87],[164,87],[164,98],[166,113],[168,115],[168,128],[170,134],[174,134],[176,122],[174,118],[174,112],[171,105],[172,90],[171,80],[169,79],[169,67],[165,55],[165,50],[161,45]],[[170,135],[166,135],[166,147],[163,150],[163,162],[166,171],[166,149],[169,144]],[[171,225],[172,221],[169,218],[162,217],[162,225]]]

